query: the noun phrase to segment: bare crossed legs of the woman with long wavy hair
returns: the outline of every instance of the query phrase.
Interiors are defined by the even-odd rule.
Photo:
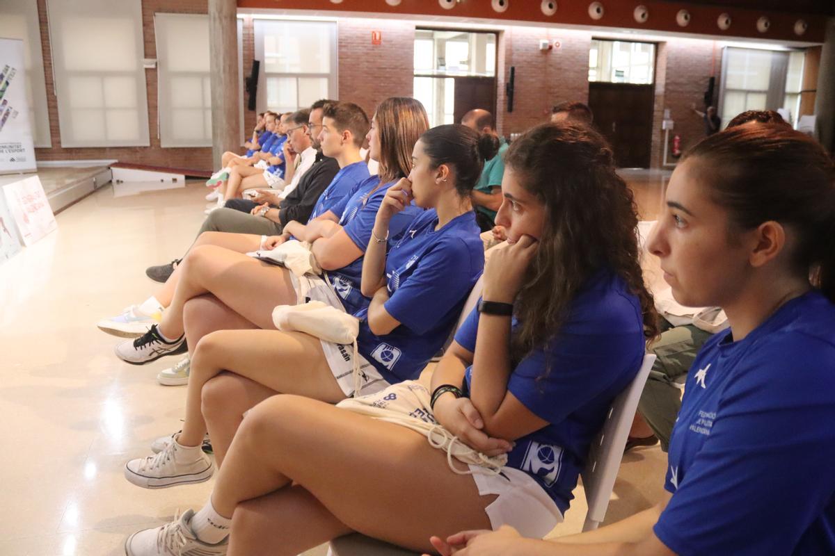
[[[432,534],[490,528],[484,508],[493,499],[423,435],[296,396],[274,396],[247,415],[211,496],[234,520],[230,556],[297,554],[347,528],[431,551]]]

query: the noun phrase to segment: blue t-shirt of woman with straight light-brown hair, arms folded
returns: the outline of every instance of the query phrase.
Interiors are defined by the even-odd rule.
[[[350,198],[343,198],[342,202],[331,208],[334,213],[342,214],[339,224],[363,253],[368,247],[368,242],[371,241],[371,232],[382,198],[386,196],[388,188],[397,182],[385,183],[372,193],[379,183],[379,176],[370,176],[360,183],[357,191]],[[388,225],[389,237],[397,238],[403,228],[412,223],[412,220],[420,213],[423,213],[423,208],[410,204],[400,213],[395,214]],[[362,295],[360,291],[362,257],[345,267],[331,270],[327,273],[327,279],[342,299],[342,305],[347,313],[357,314],[360,309],[367,308],[368,303],[371,303],[371,299]]]

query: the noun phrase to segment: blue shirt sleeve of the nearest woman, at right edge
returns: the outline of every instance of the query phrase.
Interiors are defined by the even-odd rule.
[[[806,337],[791,353],[761,345],[728,385],[678,488],[668,482],[675,492],[654,530],[672,551],[797,553],[798,539],[831,507],[835,356],[830,346],[820,358],[821,343]]]

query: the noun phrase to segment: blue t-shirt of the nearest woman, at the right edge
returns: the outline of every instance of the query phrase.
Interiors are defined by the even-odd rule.
[[[701,348],[655,534],[688,554],[835,553],[835,305],[806,293]]]

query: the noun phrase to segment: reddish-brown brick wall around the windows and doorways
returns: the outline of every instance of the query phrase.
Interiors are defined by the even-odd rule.
[[[206,13],[207,0],[143,0],[144,56],[155,58],[154,13]],[[41,20],[44,68],[47,80],[49,113],[53,114],[53,148],[38,148],[40,160],[116,158],[124,162],[177,168],[209,169],[210,148],[160,148],[157,131],[157,73],[145,70],[147,81],[150,147],[137,148],[61,148],[58,132],[58,107],[53,93],[52,58],[48,40],[46,0],[38,0]],[[243,72],[251,73],[254,56],[252,17],[243,26]],[[377,103],[392,96],[412,95],[414,24],[387,19],[341,18],[338,34],[338,97],[364,108],[369,116]],[[547,121],[550,108],[564,100],[587,102],[589,48],[592,34],[557,28],[510,26],[500,28],[497,57],[497,123],[500,133],[524,132]],[[372,45],[372,31],[382,33],[382,45]],[[539,39],[560,48],[539,50]],[[691,104],[701,107],[701,97],[711,73],[720,75],[721,52],[708,40],[676,38],[659,43],[656,63],[655,106],[653,116],[651,166],[660,167],[663,132],[660,130],[665,108],[670,108],[687,148],[704,137],[701,119],[691,112]],[[514,111],[507,111],[504,83],[510,68],[516,68]],[[716,91],[718,92],[718,83]],[[246,103],[247,98],[241,99]],[[255,124],[256,114],[245,111],[245,129]]]

